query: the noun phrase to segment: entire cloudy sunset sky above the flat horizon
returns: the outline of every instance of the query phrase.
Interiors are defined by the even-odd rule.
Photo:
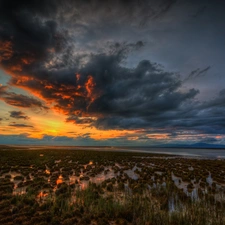
[[[0,144],[225,144],[223,0],[0,0]]]

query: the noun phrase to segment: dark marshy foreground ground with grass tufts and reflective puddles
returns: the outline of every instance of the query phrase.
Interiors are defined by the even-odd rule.
[[[0,224],[225,224],[225,161],[1,146]]]

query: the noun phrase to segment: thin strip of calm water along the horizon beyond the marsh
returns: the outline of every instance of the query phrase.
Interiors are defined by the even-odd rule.
[[[17,147],[17,146],[13,146]],[[20,148],[37,149],[64,149],[64,150],[98,150],[98,151],[123,151],[144,152],[183,157],[225,158],[225,149],[194,149],[194,148],[151,148],[151,147],[89,147],[89,146],[20,146]]]

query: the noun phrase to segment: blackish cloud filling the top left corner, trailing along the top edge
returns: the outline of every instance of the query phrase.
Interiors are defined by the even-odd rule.
[[[62,23],[92,23],[106,26],[117,18],[119,21],[137,22],[146,14],[164,14],[173,0],[161,1],[6,1],[0,3],[1,66],[10,74],[27,75],[36,71],[56,53],[57,67],[68,66],[71,61],[70,31]],[[78,10],[77,10],[78,9]],[[149,9],[149,10],[148,10]],[[94,13],[94,15],[93,15]],[[93,18],[94,16],[94,18]],[[105,23],[105,24],[104,24]],[[61,26],[60,26],[61,25]],[[92,26],[92,25],[91,25]],[[88,28],[89,29],[89,28]],[[101,28],[105,29],[105,28]],[[99,28],[96,29],[99,32]],[[94,31],[92,31],[94,32]],[[96,31],[97,32],[97,31]],[[73,35],[72,35],[73,36]],[[88,35],[89,36],[89,35]],[[93,35],[92,35],[93,36]],[[139,41],[136,47],[143,46]],[[60,59],[61,57],[61,59]],[[58,60],[57,60],[58,59]]]

